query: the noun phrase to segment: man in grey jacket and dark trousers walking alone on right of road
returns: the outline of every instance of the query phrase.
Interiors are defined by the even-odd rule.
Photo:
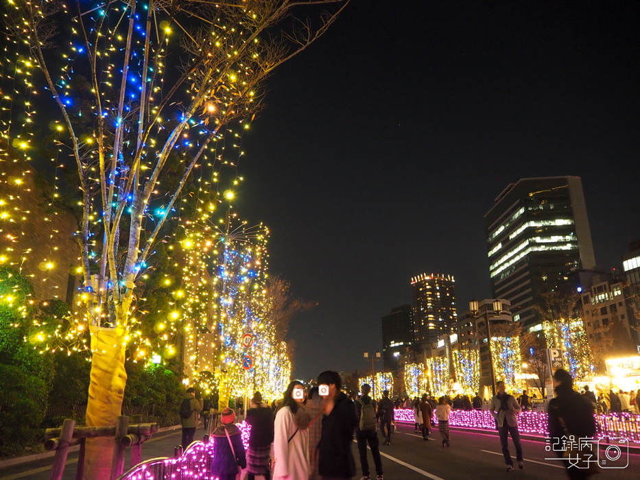
[[[496,427],[500,434],[500,443],[502,444],[502,454],[507,464],[507,471],[513,471],[513,460],[509,453],[508,435],[516,447],[516,458],[518,467],[522,470],[524,467],[522,457],[522,444],[520,443],[520,432],[518,431],[517,414],[522,411],[519,403],[514,396],[505,392],[504,382],[499,381],[496,384],[498,393],[491,399],[489,411],[495,418]]]

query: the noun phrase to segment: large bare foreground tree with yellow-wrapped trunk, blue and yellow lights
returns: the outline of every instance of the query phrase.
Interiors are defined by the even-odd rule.
[[[115,424],[121,411],[137,283],[187,178],[228,125],[248,125],[264,80],[322,35],[347,1],[133,0],[71,8],[58,0],[10,1],[5,23],[14,50],[23,52],[10,59],[15,75],[25,97],[44,96],[43,106],[53,99],[60,144],[78,170],[80,326],[91,330],[93,352],[89,426]],[[282,30],[296,8],[318,3],[337,12]],[[58,43],[66,45],[50,48]],[[25,101],[28,121],[34,104]],[[82,115],[87,105],[90,116]],[[24,149],[34,141],[13,140]],[[163,176],[176,157],[184,173],[167,191]],[[108,439],[87,440],[85,476],[108,477],[111,452]]]

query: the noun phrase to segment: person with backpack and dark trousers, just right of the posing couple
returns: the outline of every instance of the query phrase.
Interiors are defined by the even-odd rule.
[[[376,431],[376,401],[369,394],[371,385],[365,383],[361,388],[362,397],[355,402],[355,415],[358,418],[358,426],[355,429],[355,439],[358,442],[358,453],[360,455],[360,467],[362,468],[362,479],[370,480],[369,461],[367,459],[367,444],[371,449],[373,463],[375,464],[376,480],[383,480],[382,459],[378,432]]]

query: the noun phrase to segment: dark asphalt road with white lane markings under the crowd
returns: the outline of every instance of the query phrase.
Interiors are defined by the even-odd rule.
[[[199,429],[195,437],[202,437]],[[547,460],[552,457],[545,451],[543,442],[523,440],[525,469],[506,472],[497,436],[482,433],[451,431],[451,447],[442,448],[438,429],[431,431],[435,440],[425,442],[420,435],[414,434],[413,428],[399,425],[390,446],[381,446],[383,468],[386,480],[424,480],[424,479],[501,479],[514,477],[519,480],[531,479],[567,479],[565,470],[558,460]],[[167,432],[153,437],[143,446],[143,459],[168,457],[174,446],[180,443],[180,430]],[[353,455],[357,465],[357,476],[360,471],[357,447],[353,444]],[[512,455],[515,452],[512,450]],[[78,464],[78,453],[71,453],[64,480],[75,478],[75,467]],[[128,465],[128,461],[127,461]],[[369,453],[371,472],[373,459]],[[637,479],[640,472],[640,455],[630,455],[629,465],[623,469],[603,469],[597,480]],[[15,466],[0,470],[0,480],[48,480],[51,474],[51,459],[33,462],[29,465]],[[260,478],[260,477],[258,477]]]

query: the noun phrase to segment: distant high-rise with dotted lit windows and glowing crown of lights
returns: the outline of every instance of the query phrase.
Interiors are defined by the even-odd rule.
[[[411,287],[416,344],[429,346],[453,333],[458,322],[453,277],[422,274],[411,279]]]

